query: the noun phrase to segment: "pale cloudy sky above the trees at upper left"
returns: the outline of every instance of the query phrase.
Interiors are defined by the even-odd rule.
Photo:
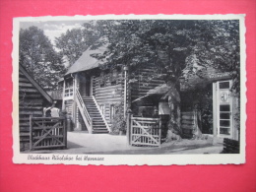
[[[76,21],[47,21],[47,22],[21,22],[21,29],[28,29],[35,26],[44,31],[44,34],[49,37],[53,44],[55,37],[59,37],[62,33],[67,30],[82,28],[82,24],[87,21],[76,20]]]

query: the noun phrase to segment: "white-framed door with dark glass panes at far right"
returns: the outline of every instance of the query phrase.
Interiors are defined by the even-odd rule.
[[[216,87],[216,125],[219,137],[231,138],[233,132],[231,80],[215,83]]]

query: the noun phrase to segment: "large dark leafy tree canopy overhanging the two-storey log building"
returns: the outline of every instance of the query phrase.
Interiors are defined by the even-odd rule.
[[[200,75],[208,67],[233,73],[239,91],[238,21],[121,20],[97,21],[108,50],[101,55],[102,69],[124,65],[135,69],[154,64],[156,76],[166,82]],[[100,28],[99,28],[100,26]]]

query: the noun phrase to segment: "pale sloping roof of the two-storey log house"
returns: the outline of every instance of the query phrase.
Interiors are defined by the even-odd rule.
[[[98,67],[99,60],[92,56],[92,54],[103,53],[106,50],[106,45],[96,48],[96,50],[89,47],[82,56],[69,68],[68,74],[86,71]]]

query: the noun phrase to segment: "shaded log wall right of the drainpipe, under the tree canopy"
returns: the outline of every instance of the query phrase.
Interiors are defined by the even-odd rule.
[[[155,73],[156,70],[152,66],[137,70],[136,79],[138,81],[131,84],[131,101],[139,97],[146,96],[150,90],[164,84],[164,81],[160,78],[153,78],[152,80],[149,79],[149,76],[151,77]],[[150,108],[154,107],[156,104],[158,103],[154,103],[153,100],[145,97],[136,102],[133,102],[131,107],[134,115],[140,115],[140,107]]]

